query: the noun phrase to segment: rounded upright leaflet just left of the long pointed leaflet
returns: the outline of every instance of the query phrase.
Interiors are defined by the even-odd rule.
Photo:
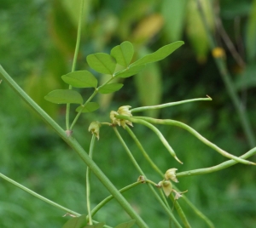
[[[112,48],[111,55],[121,66],[129,66],[134,54],[133,46],[130,42],[125,41],[120,45]]]

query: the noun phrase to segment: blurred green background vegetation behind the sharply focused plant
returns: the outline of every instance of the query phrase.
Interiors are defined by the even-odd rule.
[[[240,156],[250,146],[241,128],[218,69],[212,59],[207,35],[192,0],[86,0],[77,70],[89,69],[88,54],[107,52],[125,40],[133,43],[136,58],[163,45],[183,40],[185,45],[157,64],[147,66],[135,77],[125,78],[118,93],[101,95],[100,111],[84,115],[74,135],[88,151],[91,121],[106,122],[108,113],[120,105],[154,105],[177,100],[212,97],[212,101],[178,105],[145,115],[172,118],[195,128],[225,151]],[[67,88],[61,75],[71,71],[79,0],[0,0],[0,64],[15,78],[38,105],[65,128],[65,105],[53,105],[44,95],[56,88]],[[234,87],[247,109],[256,134],[256,1],[202,1],[207,21],[218,45],[226,50],[226,60]],[[219,14],[216,10],[219,7]],[[214,20],[219,18],[246,67],[230,54]],[[99,80],[106,76],[96,75]],[[81,91],[88,97],[88,90]],[[16,96],[7,83],[0,85],[0,172],[80,214],[86,213],[85,170],[79,157]],[[73,106],[72,106],[73,107]],[[74,113],[75,107],[73,107]],[[73,114],[71,115],[73,117]],[[160,127],[183,165],[168,155],[160,141],[148,129],[135,126],[148,154],[162,172],[206,168],[224,162],[217,152],[202,145],[192,135],[174,127]],[[120,133],[130,145],[149,179],[160,177],[144,161],[136,145]],[[111,128],[101,128],[96,143],[95,161],[117,188],[137,180],[138,173],[128,161],[124,149]],[[251,158],[256,162],[255,157]],[[218,173],[187,177],[177,187],[189,190],[195,206],[218,228],[256,225],[256,169],[236,165]],[[108,196],[108,191],[92,175],[92,205]],[[167,227],[168,219],[146,185],[125,193],[132,206],[150,227]],[[192,227],[207,227],[179,200]],[[64,213],[24,191],[0,180],[0,227],[61,227]],[[117,225],[129,217],[117,202],[109,202],[95,219]]]

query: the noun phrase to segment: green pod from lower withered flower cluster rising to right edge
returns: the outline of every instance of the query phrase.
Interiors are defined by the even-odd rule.
[[[256,154],[256,147],[254,147],[250,151],[247,151],[247,153],[242,155],[241,158],[246,159],[247,157],[251,157],[254,154]],[[216,171],[219,171],[224,168],[229,168],[230,166],[235,165],[236,163],[238,163],[238,162],[236,162],[234,160],[230,160],[230,161],[222,162],[222,163],[220,163],[216,166],[212,166],[210,168],[198,168],[195,170],[181,172],[181,173],[176,174],[176,176],[177,177],[185,177],[185,176],[194,176],[194,175],[201,175],[201,174],[210,174],[212,172],[216,172]]]

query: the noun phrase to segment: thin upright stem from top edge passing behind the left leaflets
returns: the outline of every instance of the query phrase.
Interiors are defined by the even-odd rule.
[[[78,60],[79,45],[80,45],[81,30],[82,30],[83,10],[84,10],[84,0],[81,0],[80,14],[79,14],[79,28],[78,28],[76,48],[75,48],[75,52],[74,52],[74,56],[73,56],[73,65],[72,65],[72,70],[71,70],[72,72],[75,71],[77,60]],[[72,86],[69,85],[68,89],[72,89]],[[69,112],[70,112],[70,104],[67,104],[67,111],[66,111],[66,128],[67,128],[67,130],[69,130]]]

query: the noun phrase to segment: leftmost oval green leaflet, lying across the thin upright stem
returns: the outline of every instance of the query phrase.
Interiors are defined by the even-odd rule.
[[[49,92],[44,99],[55,104],[83,104],[82,96],[77,91],[71,89],[56,89]]]

